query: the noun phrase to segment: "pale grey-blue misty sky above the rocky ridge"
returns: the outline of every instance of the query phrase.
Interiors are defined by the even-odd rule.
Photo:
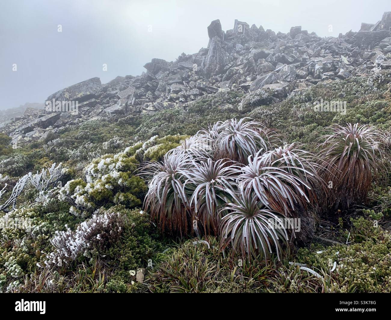
[[[106,83],[139,75],[152,58],[198,52],[208,45],[206,27],[215,19],[223,30],[238,19],[275,32],[301,25],[338,36],[358,31],[361,22],[376,23],[384,11],[391,11],[389,0],[2,0],[0,109],[43,103],[92,77]]]

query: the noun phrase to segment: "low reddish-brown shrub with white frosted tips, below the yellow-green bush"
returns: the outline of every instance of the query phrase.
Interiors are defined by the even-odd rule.
[[[56,231],[50,243],[55,250],[47,255],[46,260],[38,266],[54,268],[68,265],[78,256],[88,255],[90,250],[101,250],[119,239],[122,233],[124,218],[116,212],[93,215],[90,220],[82,222],[75,231]]]

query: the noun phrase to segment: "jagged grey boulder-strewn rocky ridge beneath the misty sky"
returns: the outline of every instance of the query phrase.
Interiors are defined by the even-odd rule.
[[[208,47],[182,53],[176,61],[152,59],[139,76],[118,76],[106,84],[95,77],[52,95],[47,101],[77,101],[77,112],[27,109],[1,124],[18,142],[41,139],[46,132],[99,117],[186,109],[197,98],[219,91],[256,91],[259,99],[278,102],[322,81],[346,79],[391,68],[391,12],[377,23],[362,23],[337,38],[291,27],[275,33],[235,20],[222,30],[220,20],[206,28]],[[244,97],[246,99],[246,96]],[[74,110],[75,111],[75,110]]]

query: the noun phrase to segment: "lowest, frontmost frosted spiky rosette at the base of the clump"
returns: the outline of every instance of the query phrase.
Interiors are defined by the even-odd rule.
[[[249,257],[261,254],[265,260],[276,252],[280,259],[280,242],[288,241],[284,217],[267,209],[249,190],[241,190],[239,194],[231,192],[231,195],[233,202],[222,208],[227,211],[221,224],[222,246],[231,243],[234,252]]]

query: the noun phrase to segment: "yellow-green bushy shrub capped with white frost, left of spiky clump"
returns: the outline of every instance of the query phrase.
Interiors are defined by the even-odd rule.
[[[154,136],[117,154],[93,159],[84,169],[84,179],[68,181],[59,191],[59,199],[69,202],[72,205],[70,212],[76,216],[88,216],[102,206],[140,206],[147,189],[145,182],[136,175],[140,162],[160,159],[186,137]],[[118,139],[112,143],[119,143]]]

